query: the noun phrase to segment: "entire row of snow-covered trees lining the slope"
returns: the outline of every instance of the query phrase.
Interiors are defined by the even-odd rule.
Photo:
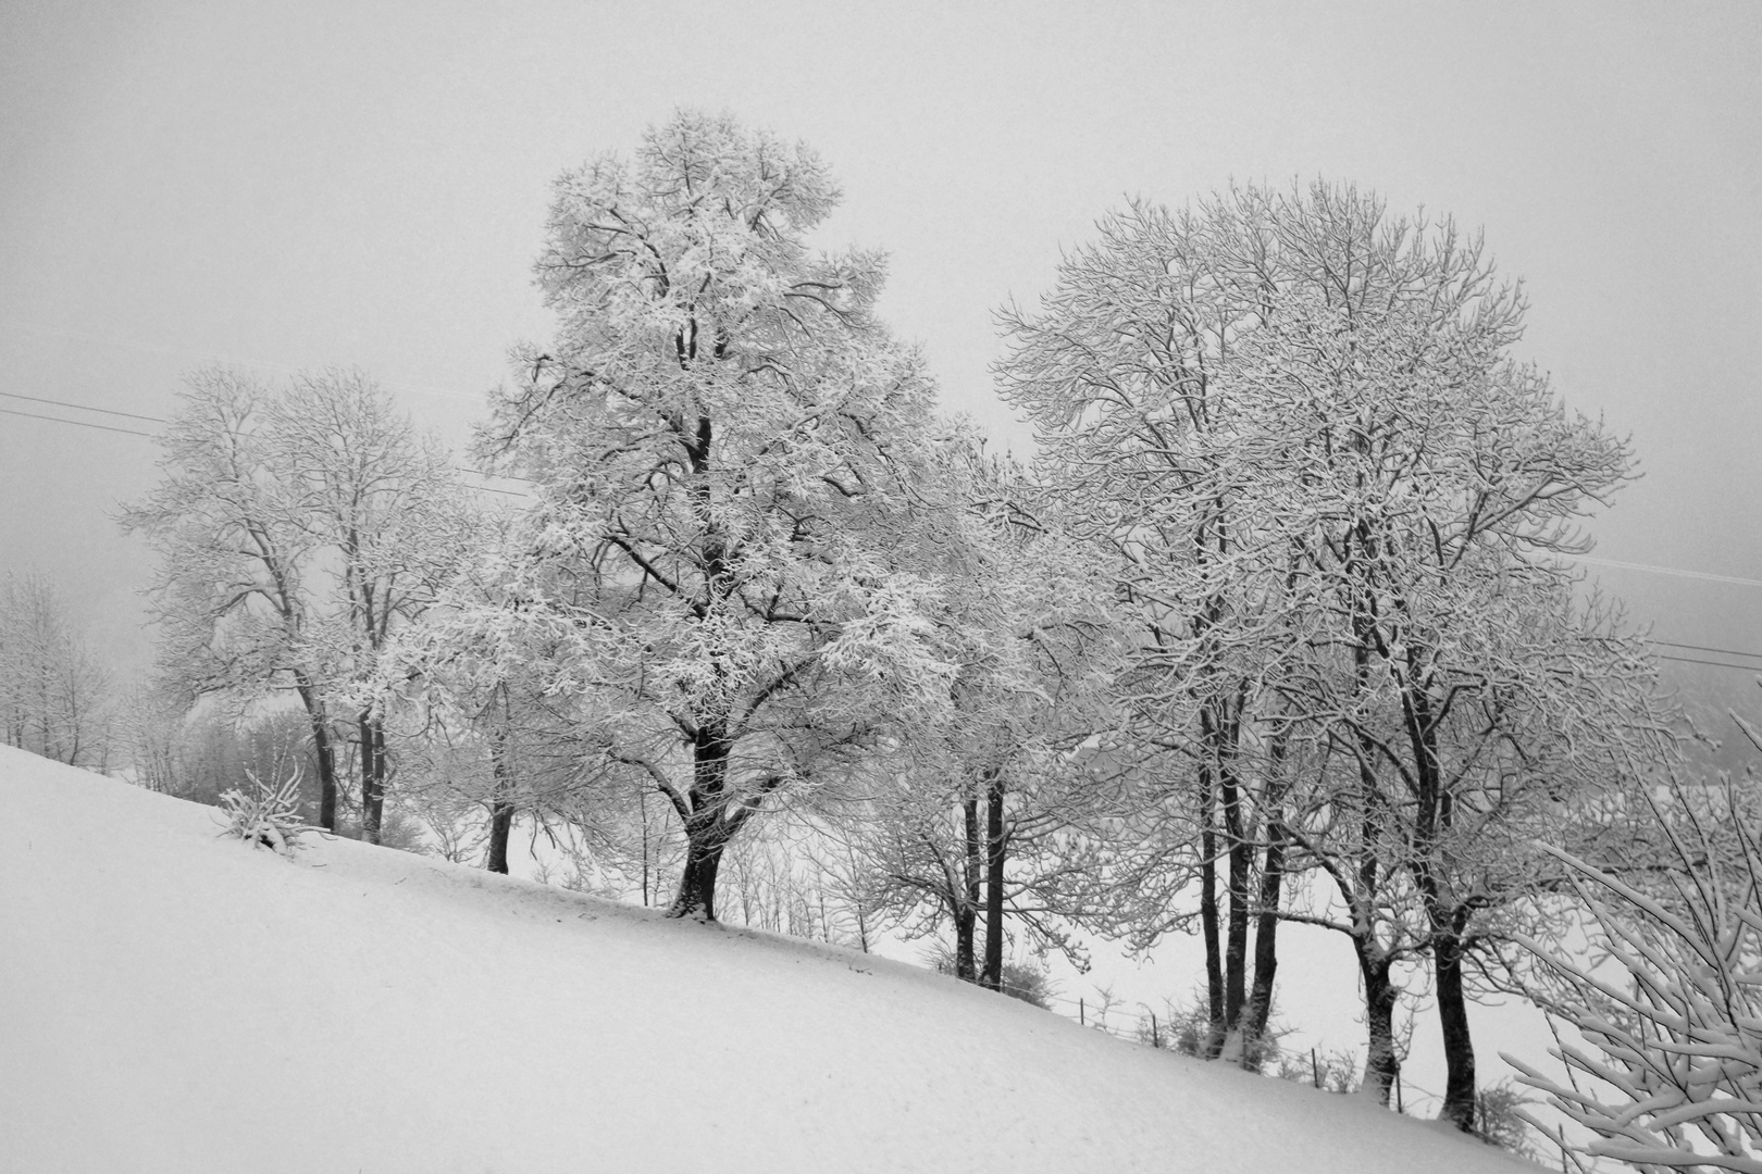
[[[162,556],[139,706],[266,730],[233,753],[331,831],[495,871],[523,836],[550,878],[934,938],[994,989],[1198,933],[1196,1051],[1249,1067],[1279,926],[1323,926],[1366,1088],[1429,991],[1473,1128],[1468,1002],[1536,980],[1572,861],[1679,875],[1633,834],[1677,716],[1566,560],[1630,447],[1514,357],[1478,238],[1314,183],[1133,202],[1004,310],[1020,463],[936,414],[883,257],[811,245],[837,195],[694,113],[566,172],[555,334],[469,458],[504,493],[358,373],[194,375],[122,516]],[[143,781],[189,790],[174,759]]]

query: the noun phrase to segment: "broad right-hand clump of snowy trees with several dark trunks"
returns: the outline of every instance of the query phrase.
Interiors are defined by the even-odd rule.
[[[1214,1007],[1244,1009],[1247,919],[1277,891],[1255,899],[1256,848],[1263,880],[1322,868],[1367,1084],[1394,1077],[1388,970],[1424,949],[1462,1128],[1464,954],[1533,891],[1536,820],[1663,739],[1651,665],[1556,558],[1632,458],[1510,357],[1522,315],[1478,239],[1325,183],[1133,206],[1006,315],[1006,391],[1140,611],[1142,737],[1191,764],[1165,790],[1189,796],[1212,959],[1228,862]]]

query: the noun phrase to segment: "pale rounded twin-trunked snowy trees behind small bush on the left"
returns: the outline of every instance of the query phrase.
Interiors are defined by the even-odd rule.
[[[294,692],[319,824],[337,827],[338,759],[352,746],[361,834],[377,840],[389,752],[363,685],[469,530],[446,452],[347,371],[284,391],[199,371],[160,445],[164,477],[122,525],[160,554],[164,679],[192,701]]]

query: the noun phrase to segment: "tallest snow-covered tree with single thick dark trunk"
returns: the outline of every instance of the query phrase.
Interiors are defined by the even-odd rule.
[[[539,498],[509,588],[573,648],[606,753],[685,829],[677,917],[722,850],[946,697],[906,569],[932,389],[872,317],[881,260],[809,232],[803,146],[680,113],[557,181],[537,280],[559,326],[495,405],[488,456]]]

